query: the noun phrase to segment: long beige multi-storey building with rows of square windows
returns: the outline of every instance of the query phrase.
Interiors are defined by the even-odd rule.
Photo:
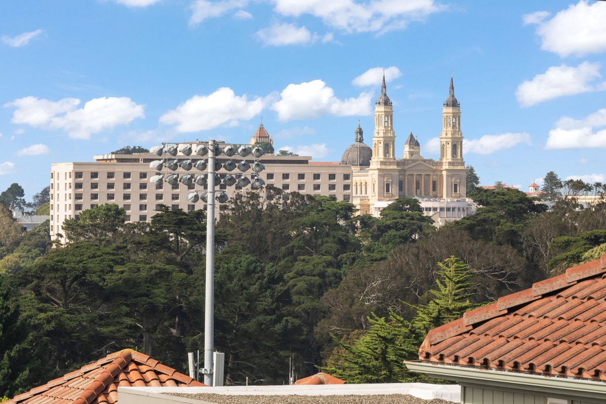
[[[196,142],[192,143],[196,145]],[[224,146],[224,144],[222,145]],[[173,159],[179,161],[190,159],[195,161],[199,156],[184,156],[177,154]],[[205,203],[199,200],[195,204],[188,202],[187,194],[192,190],[204,191],[207,186],[199,187],[195,183],[184,185],[179,182],[170,185],[162,182],[156,185],[150,178],[156,174],[150,168],[150,162],[160,157],[151,153],[138,154],[104,154],[95,156],[95,162],[55,163],[50,173],[50,235],[54,239],[61,233],[61,224],[65,219],[78,217],[82,210],[98,204],[118,204],[127,213],[127,221],[149,221],[156,213],[156,205],[164,204],[183,210],[205,209]],[[252,164],[253,159],[243,159],[238,155],[217,157],[225,163],[231,160],[238,164],[246,160]],[[262,156],[259,161],[265,165],[265,170],[259,177],[267,185],[281,188],[284,191],[298,191],[313,195],[331,195],[338,200],[351,199],[351,167],[333,162],[311,162],[311,157],[305,156]],[[173,171],[164,168],[162,172]],[[178,168],[177,174],[202,174],[191,168],[185,171]],[[224,168],[217,171],[224,179],[228,174],[242,174],[238,169],[228,172]],[[247,171],[250,176],[251,171]],[[225,184],[215,186],[216,191],[224,191],[228,197],[241,197],[250,190],[250,185],[244,189],[237,185],[227,187]],[[216,205],[216,217],[219,217],[225,205]]]

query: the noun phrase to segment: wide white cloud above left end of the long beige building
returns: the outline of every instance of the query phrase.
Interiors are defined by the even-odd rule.
[[[93,133],[129,124],[135,118],[145,118],[143,105],[135,104],[127,97],[93,98],[84,107],[76,108],[80,103],[77,98],[63,98],[55,102],[28,96],[4,106],[16,108],[11,119],[13,124],[64,130],[72,139],[90,139]]]

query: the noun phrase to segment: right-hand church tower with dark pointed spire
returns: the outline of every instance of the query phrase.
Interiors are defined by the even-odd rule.
[[[440,134],[440,161],[463,162],[463,134],[461,133],[461,105],[454,98],[454,85],[450,76],[448,98],[442,109],[442,133]]]

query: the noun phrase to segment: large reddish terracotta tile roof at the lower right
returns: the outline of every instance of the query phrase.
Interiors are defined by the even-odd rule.
[[[606,381],[606,254],[432,329],[419,359]]]

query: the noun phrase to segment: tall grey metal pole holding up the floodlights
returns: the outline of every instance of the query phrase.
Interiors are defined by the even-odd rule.
[[[204,384],[213,385],[215,350],[215,141],[208,141],[208,202],[206,208],[206,291],[204,310]]]

